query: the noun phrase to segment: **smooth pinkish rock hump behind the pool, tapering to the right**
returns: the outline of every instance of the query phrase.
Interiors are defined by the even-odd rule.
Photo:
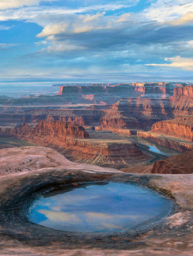
[[[46,147],[18,147],[0,150],[0,176],[12,173],[22,174],[47,168],[68,168],[68,170],[91,170],[95,172],[119,172],[93,164],[72,163],[63,155]]]

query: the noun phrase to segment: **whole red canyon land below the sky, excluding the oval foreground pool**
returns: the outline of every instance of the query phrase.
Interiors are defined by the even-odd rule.
[[[126,83],[58,89],[54,96],[0,98],[1,253],[190,255],[193,86]],[[27,217],[31,202],[45,196],[42,191],[59,194],[65,186],[73,190],[84,182],[111,181],[162,193],[171,200],[169,214],[120,234],[83,236],[48,230]]]

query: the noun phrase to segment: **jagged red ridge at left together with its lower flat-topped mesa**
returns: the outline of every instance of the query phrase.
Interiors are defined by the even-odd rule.
[[[101,166],[122,168],[151,159],[131,141],[90,139],[83,127],[61,121],[42,121],[35,127],[0,127],[0,134],[55,148],[73,161]]]

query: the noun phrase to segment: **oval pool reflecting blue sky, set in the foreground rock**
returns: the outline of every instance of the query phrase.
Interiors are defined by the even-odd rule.
[[[172,205],[157,192],[135,184],[74,184],[37,198],[29,209],[29,221],[70,232],[123,231],[162,219]]]

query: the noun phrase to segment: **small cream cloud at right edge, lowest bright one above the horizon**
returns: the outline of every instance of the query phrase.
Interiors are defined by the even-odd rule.
[[[174,58],[165,58],[166,61],[171,61],[167,64],[146,64],[147,66],[158,66],[158,67],[174,67],[174,68],[183,68],[186,70],[193,70],[193,58],[181,58],[176,56]]]

